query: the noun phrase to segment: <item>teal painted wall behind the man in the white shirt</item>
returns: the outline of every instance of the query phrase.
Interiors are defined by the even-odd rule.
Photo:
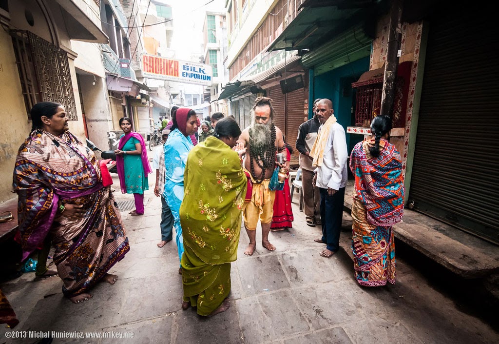
[[[347,126],[355,124],[352,105],[355,101],[355,91],[351,83],[359,79],[360,75],[369,70],[369,57],[364,57],[339,68],[320,75],[310,77],[309,83],[309,117],[312,113],[313,100],[316,98],[329,98],[333,102],[334,115],[338,123]],[[348,152],[353,146],[364,138],[362,135],[346,134]]]

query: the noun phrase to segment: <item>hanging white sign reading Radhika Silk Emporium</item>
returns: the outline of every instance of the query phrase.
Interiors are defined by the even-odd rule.
[[[152,79],[212,84],[212,66],[210,64],[182,61],[156,55],[142,55],[142,75]]]

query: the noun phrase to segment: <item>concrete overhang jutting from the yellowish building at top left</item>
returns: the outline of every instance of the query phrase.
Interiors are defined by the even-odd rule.
[[[106,34],[94,24],[92,19],[81,10],[74,0],[55,1],[60,7],[61,15],[58,18],[64,22],[69,38],[86,42],[109,43]],[[96,16],[96,20],[100,20],[99,16]]]

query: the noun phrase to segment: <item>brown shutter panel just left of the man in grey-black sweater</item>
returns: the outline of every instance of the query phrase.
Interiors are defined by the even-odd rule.
[[[296,149],[296,138],[298,137],[298,127],[303,123],[305,100],[305,89],[300,88],[286,94],[286,141],[293,147],[293,155],[298,156]]]

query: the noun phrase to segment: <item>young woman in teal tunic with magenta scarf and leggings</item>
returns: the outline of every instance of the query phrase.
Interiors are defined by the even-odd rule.
[[[124,134],[120,136],[116,153],[116,168],[120,178],[122,193],[133,193],[135,210],[132,216],[144,214],[144,191],[149,189],[147,174],[152,172],[147,158],[144,138],[132,131],[130,118],[120,118],[120,127]]]

